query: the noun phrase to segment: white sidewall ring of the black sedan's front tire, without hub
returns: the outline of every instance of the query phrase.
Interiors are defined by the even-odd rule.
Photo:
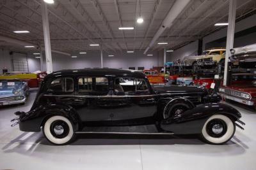
[[[215,118],[219,118],[227,124],[227,132],[220,138],[213,138],[212,136],[209,136],[206,131],[206,125],[208,124],[208,122]],[[232,138],[232,136],[234,135],[234,131],[234,123],[232,122],[232,120],[230,120],[230,118],[226,117],[225,115],[212,115],[210,118],[207,119],[204,124],[204,127],[202,129],[202,136],[206,141],[209,141],[210,143],[221,144],[227,142],[230,138]]]

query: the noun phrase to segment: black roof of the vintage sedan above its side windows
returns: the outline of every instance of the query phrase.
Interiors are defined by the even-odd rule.
[[[62,69],[48,74],[45,78],[58,76],[132,76],[144,78],[145,74],[141,71],[131,69],[113,69],[113,68],[85,68],[85,69]]]

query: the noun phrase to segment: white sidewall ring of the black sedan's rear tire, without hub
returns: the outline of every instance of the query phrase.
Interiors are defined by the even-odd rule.
[[[52,136],[51,131],[50,131],[51,124],[52,124],[52,122],[54,122],[56,120],[62,120],[62,121],[66,122],[68,124],[69,132],[68,132],[68,135],[65,138],[60,139],[60,138],[55,138],[54,136]],[[54,117],[49,118],[45,122],[45,124],[44,124],[44,135],[52,143],[54,143],[56,145],[63,145],[65,143],[68,143],[68,141],[70,141],[72,139],[72,137],[74,135],[73,126],[67,118],[61,117],[61,116],[54,116]]]

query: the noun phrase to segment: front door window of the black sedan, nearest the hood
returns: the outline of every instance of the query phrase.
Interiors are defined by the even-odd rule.
[[[149,92],[147,82],[140,78],[116,78],[115,92]]]

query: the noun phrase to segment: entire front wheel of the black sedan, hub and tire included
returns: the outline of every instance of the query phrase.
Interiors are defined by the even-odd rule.
[[[236,125],[225,115],[212,115],[204,124],[202,138],[207,143],[220,145],[229,141],[236,131]]]

